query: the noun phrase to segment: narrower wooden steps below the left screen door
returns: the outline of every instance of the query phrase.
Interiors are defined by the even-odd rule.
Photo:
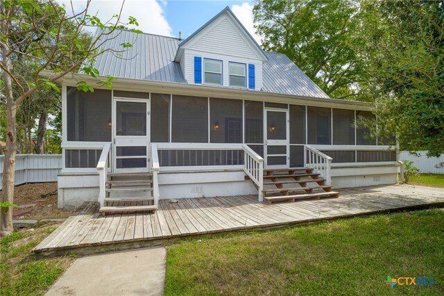
[[[108,174],[105,183],[105,206],[101,213],[155,211],[153,174]]]

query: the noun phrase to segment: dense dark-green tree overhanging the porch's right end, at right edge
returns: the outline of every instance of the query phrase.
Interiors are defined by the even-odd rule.
[[[368,72],[379,134],[395,133],[401,149],[427,150],[429,156],[444,153],[443,4],[364,3],[375,53],[368,56]]]

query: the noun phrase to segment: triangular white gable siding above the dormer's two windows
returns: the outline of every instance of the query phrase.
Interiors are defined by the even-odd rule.
[[[191,44],[189,49],[239,58],[259,58],[226,17]]]

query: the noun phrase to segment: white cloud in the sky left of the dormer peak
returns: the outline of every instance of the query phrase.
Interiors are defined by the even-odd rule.
[[[121,0],[92,0],[89,4],[88,14],[97,15],[102,22],[110,19],[112,15],[119,14],[122,5]],[[71,14],[71,3],[69,0],[58,0],[64,3],[67,13]],[[85,0],[73,0],[74,11],[83,10],[86,5]],[[128,22],[128,17],[137,19],[139,30],[145,33],[171,36],[171,26],[164,15],[164,8],[167,3],[163,0],[126,0],[121,12],[121,21]]]

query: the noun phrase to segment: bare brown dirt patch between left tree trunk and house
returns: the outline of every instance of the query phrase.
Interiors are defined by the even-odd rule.
[[[57,182],[29,183],[15,186],[14,204],[22,208],[14,208],[14,219],[42,220],[65,218],[72,215],[71,211],[57,208]]]

